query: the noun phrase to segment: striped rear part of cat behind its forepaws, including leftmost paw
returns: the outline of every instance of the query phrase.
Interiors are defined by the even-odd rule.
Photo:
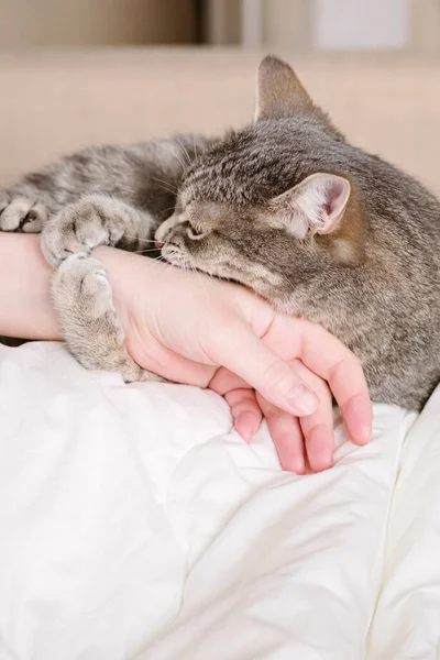
[[[67,206],[97,195],[144,213],[145,234],[151,238],[174,210],[183,170],[207,144],[200,136],[179,135],[128,146],[91,146],[72,154],[0,191],[0,229],[41,232]],[[129,240],[127,244],[136,249]]]

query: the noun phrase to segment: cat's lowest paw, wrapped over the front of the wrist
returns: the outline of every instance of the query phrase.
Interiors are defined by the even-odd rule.
[[[65,258],[54,275],[52,294],[67,345],[82,366],[118,372],[127,383],[163,381],[128,353],[111,286],[98,260],[85,253]]]

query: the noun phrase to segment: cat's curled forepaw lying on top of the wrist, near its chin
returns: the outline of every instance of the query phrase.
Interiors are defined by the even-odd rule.
[[[111,198],[91,195],[63,209],[42,234],[47,262],[57,267],[73,254],[90,254],[97,245],[116,245],[125,229],[119,208]]]

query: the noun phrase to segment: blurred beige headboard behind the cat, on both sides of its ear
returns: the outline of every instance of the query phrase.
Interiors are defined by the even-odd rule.
[[[363,147],[440,193],[437,57],[294,57],[306,87]],[[261,55],[110,50],[0,55],[0,183],[100,142],[249,121]]]

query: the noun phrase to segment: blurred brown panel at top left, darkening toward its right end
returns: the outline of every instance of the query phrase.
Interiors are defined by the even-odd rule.
[[[193,0],[0,0],[0,48],[190,43]]]

